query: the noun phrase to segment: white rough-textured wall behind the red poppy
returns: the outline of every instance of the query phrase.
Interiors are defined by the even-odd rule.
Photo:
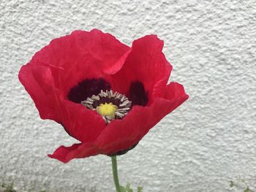
[[[18,191],[113,191],[108,156],[69,164],[46,156],[74,140],[39,119],[18,82],[20,66],[50,39],[91,28],[127,45],[157,34],[171,80],[190,96],[118,158],[122,183],[145,192],[216,192],[245,179],[256,190],[255,0],[0,0],[0,181],[14,180]]]

